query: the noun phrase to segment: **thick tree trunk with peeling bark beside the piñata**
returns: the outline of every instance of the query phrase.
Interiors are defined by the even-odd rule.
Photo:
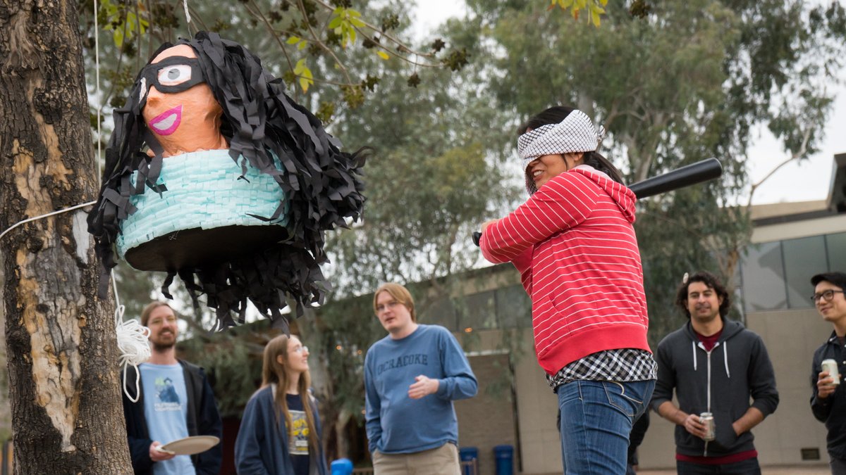
[[[0,0],[0,232],[96,196],[75,6]],[[131,472],[85,212],[17,227],[0,253],[14,472]]]

